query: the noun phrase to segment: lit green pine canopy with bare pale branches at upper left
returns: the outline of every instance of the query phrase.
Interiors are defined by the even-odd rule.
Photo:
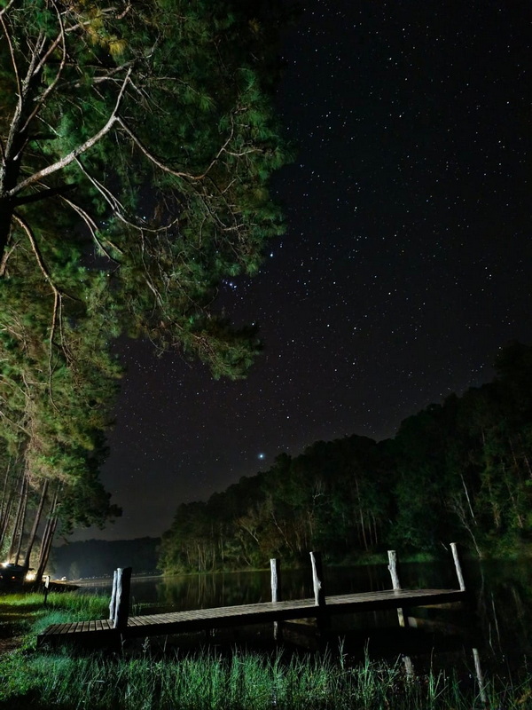
[[[98,486],[114,338],[215,376],[259,351],[215,297],[283,229],[279,21],[262,0],[0,1],[2,435],[64,501]]]

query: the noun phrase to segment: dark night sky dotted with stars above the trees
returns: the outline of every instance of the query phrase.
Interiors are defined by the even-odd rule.
[[[286,451],[393,437],[530,343],[528,2],[309,0],[278,108],[286,235],[220,304],[258,322],[246,381],[122,342],[102,479],[123,517],[75,539],[158,536]]]

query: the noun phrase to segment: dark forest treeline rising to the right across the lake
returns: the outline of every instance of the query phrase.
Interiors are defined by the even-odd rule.
[[[207,502],[178,507],[162,536],[165,572],[297,564],[310,549],[354,562],[393,546],[476,556],[532,541],[532,347],[498,353],[490,383],[402,422],[393,439],[318,441],[280,454]]]

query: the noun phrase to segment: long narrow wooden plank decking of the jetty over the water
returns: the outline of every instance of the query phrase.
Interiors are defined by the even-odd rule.
[[[264,624],[289,619],[320,618],[325,615],[354,613],[411,606],[430,606],[462,601],[465,592],[456,589],[400,589],[364,592],[325,597],[325,604],[317,606],[314,599],[296,599],[289,602],[262,602],[242,604],[217,609],[174,611],[129,617],[127,627],[113,628],[112,621],[80,621],[71,624],[54,624],[37,636],[37,645],[57,643],[88,643],[106,645],[121,638],[152,635],[182,634],[191,631],[221,627],[238,627]]]

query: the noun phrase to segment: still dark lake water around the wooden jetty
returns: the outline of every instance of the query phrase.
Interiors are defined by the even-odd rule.
[[[363,612],[332,618],[327,641],[344,638],[350,653],[364,648],[375,657],[411,654],[433,667],[473,665],[478,649],[488,671],[505,673],[522,668],[532,654],[532,560],[464,564],[467,604],[458,607],[405,610],[409,628],[400,628],[395,610]],[[325,594],[348,594],[391,588],[387,564],[364,567],[325,567]],[[448,564],[400,564],[403,588],[458,588],[452,560]],[[89,584],[82,591],[110,595],[111,582]],[[282,573],[284,599],[314,596],[309,569]],[[270,601],[270,572],[215,572],[136,579],[131,582],[132,613],[186,611],[208,607]],[[293,625],[296,635],[305,635]],[[316,634],[306,629],[309,648]],[[267,628],[250,627],[253,635]],[[302,636],[301,636],[302,637]],[[286,634],[286,639],[290,636]],[[301,642],[301,638],[297,643]],[[303,639],[304,643],[304,639]]]

